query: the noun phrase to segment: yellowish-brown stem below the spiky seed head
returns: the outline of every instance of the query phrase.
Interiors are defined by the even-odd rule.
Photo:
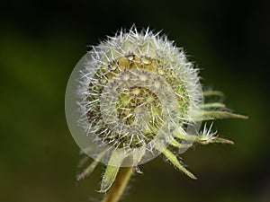
[[[103,202],[117,202],[121,198],[132,174],[132,167],[122,167]]]

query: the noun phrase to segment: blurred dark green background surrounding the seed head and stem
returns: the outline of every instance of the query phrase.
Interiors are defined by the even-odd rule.
[[[220,120],[235,145],[182,155],[190,180],[157,157],[123,201],[269,202],[269,48],[266,1],[4,1],[0,8],[0,201],[96,201],[104,167],[76,182],[79,148],[65,119],[76,62],[121,27],[163,30],[248,120]],[[94,199],[95,198],[95,199]]]

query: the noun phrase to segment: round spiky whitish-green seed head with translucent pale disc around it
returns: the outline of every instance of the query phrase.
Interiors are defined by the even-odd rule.
[[[182,48],[158,34],[135,27],[120,31],[92,47],[69,78],[68,127],[85,153],[100,162],[148,162],[175,138],[192,144],[199,130],[198,70]],[[117,161],[111,158],[115,152]]]

